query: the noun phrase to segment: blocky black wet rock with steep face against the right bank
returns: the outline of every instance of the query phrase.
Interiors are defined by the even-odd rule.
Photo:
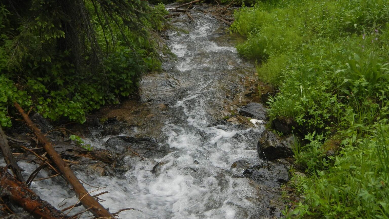
[[[259,158],[269,161],[293,156],[293,136],[280,138],[269,130],[265,130],[258,141],[257,150]]]

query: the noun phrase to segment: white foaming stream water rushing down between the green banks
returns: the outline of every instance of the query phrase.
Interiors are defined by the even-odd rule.
[[[151,122],[147,126],[154,130],[153,139],[171,152],[147,159],[125,157],[130,170],[124,176],[100,177],[77,171],[77,176],[88,184],[107,187],[92,194],[110,191],[101,198],[111,212],[137,209],[121,212],[121,218],[244,219],[267,214],[265,191],[241,177],[242,170],[231,169],[231,164],[241,159],[250,164],[258,162],[256,143],[263,125],[239,128],[216,122],[230,114],[237,94],[245,89],[244,83],[255,77],[255,69],[238,57],[234,37],[226,34],[223,23],[202,13],[192,16],[195,22],[190,24],[185,14],[173,19],[174,25],[188,34],[168,31],[166,43],[178,60],[165,62],[164,71],[149,74],[140,83],[142,102],[168,106],[153,115],[160,129],[152,129],[157,124]],[[135,127],[123,135],[139,132],[142,130]],[[90,141],[95,147],[105,148],[108,137]],[[37,167],[19,164],[26,173]],[[44,171],[39,177],[45,177]],[[65,198],[74,197],[51,179],[33,182],[32,187],[57,207]],[[89,185],[86,188],[96,189]],[[67,202],[66,207],[76,200],[70,198],[61,204]]]

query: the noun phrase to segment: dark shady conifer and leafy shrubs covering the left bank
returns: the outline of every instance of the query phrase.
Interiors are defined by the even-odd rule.
[[[158,69],[163,5],[142,0],[0,3],[0,124],[13,101],[52,120],[85,114],[137,90]]]

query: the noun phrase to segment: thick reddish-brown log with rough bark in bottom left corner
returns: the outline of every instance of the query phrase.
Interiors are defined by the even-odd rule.
[[[12,177],[7,170],[0,168],[0,191],[12,203],[22,207],[37,219],[67,219],[70,218],[37,196],[26,184]]]

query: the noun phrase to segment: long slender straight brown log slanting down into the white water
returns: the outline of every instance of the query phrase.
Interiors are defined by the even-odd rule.
[[[74,175],[72,169],[68,166],[68,164],[63,161],[61,156],[54,150],[53,145],[51,145],[50,141],[46,139],[44,134],[40,131],[40,129],[33,124],[28,115],[23,111],[23,109],[19,106],[17,102],[14,102],[14,106],[21,113],[25,122],[38,136],[38,140],[43,144],[44,149],[47,154],[51,157],[53,162],[57,165],[58,169],[62,173],[63,177],[66,181],[72,186],[74,193],[77,198],[80,200],[82,205],[87,209],[90,208],[92,214],[96,217],[105,217],[105,218],[114,218],[114,216],[103,207],[97,200],[95,200],[89,193],[86,191],[84,186],[80,183],[79,179]]]

